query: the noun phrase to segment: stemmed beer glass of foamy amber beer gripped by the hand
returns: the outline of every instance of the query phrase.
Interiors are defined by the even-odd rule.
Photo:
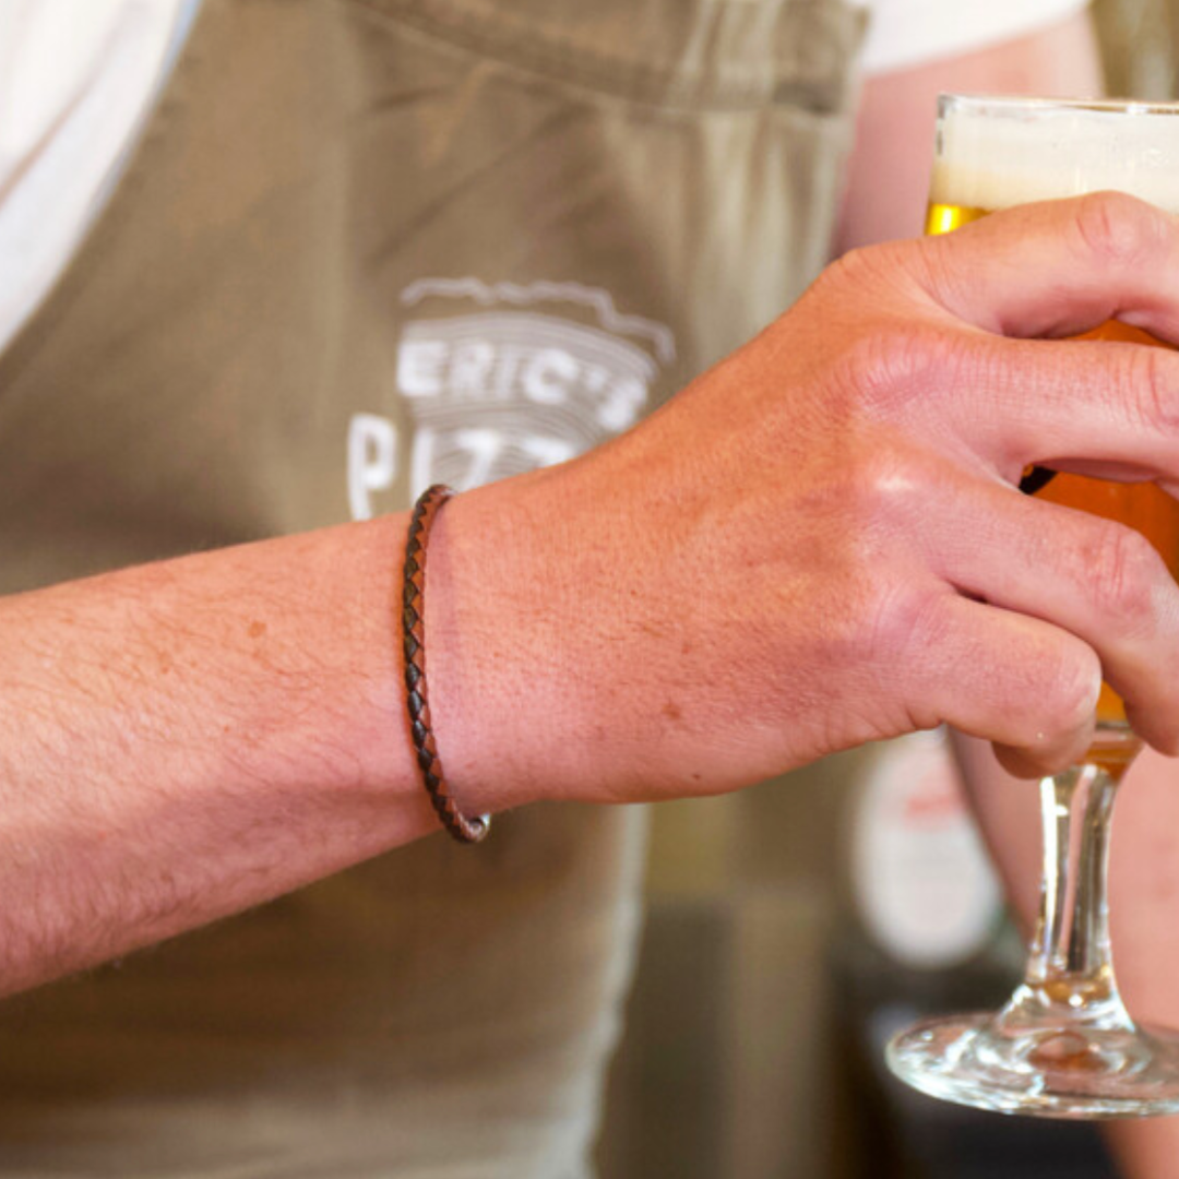
[[[927,232],[1099,190],[1179,212],[1179,104],[941,98]],[[1118,322],[1087,336],[1161,347]],[[1034,468],[1022,487],[1137,528],[1179,575],[1179,503],[1153,483]],[[888,1062],[902,1080],[931,1096],[1005,1113],[1179,1111],[1179,1038],[1131,1019],[1109,956],[1109,819],[1139,747],[1121,700],[1104,686],[1085,763],[1040,783],[1043,880],[1023,982],[996,1014],[931,1019],[896,1036]]]

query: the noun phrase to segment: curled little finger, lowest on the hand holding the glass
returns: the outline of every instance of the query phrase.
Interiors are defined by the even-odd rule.
[[[1022,777],[1058,772],[1088,749],[1101,686],[1088,644],[948,590],[928,601],[924,630],[927,657],[897,663],[918,722],[994,742]]]

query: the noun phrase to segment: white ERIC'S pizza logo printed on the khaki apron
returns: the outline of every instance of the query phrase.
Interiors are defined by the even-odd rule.
[[[606,291],[578,283],[433,278],[401,302],[422,312],[397,349],[413,436],[377,414],[353,417],[355,519],[376,514],[401,461],[416,496],[435,482],[462,490],[572,459],[633,426],[676,358],[668,328],[620,315]]]

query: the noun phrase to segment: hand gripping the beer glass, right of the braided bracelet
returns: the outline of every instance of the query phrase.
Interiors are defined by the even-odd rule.
[[[948,722],[1062,768],[1099,684],[1179,751],[1179,591],[1030,463],[1179,482],[1179,230],[1101,195],[847,256],[586,457],[452,502],[435,727],[470,809],[740,786]]]

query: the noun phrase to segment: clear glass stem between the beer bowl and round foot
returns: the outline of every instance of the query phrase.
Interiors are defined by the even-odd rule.
[[[1109,954],[1109,819],[1124,765],[1086,764],[1040,783],[1043,884],[1023,986],[1008,1015],[1052,1010],[1101,1027],[1133,1027]]]

